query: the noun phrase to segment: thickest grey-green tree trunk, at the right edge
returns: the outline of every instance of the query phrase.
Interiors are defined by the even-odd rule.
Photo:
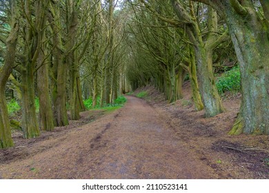
[[[242,101],[230,134],[269,134],[269,32],[268,23],[255,8],[241,15],[226,2],[226,21],[240,65]]]

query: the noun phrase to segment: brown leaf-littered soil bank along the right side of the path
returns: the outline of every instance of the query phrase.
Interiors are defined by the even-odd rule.
[[[183,85],[184,99],[172,104],[151,86],[134,94],[141,90],[148,92],[148,104],[165,114],[163,120],[174,128],[176,136],[214,170],[217,178],[269,179],[269,136],[228,135],[239,112],[241,94],[226,93],[222,96],[226,112],[205,119],[203,111],[195,112],[188,82]]]

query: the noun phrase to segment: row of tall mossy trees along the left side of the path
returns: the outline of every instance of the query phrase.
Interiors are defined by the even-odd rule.
[[[83,97],[94,107],[101,96],[105,105],[127,88],[124,14],[115,7],[113,0],[0,1],[0,148],[13,145],[7,90],[21,105],[28,139],[68,125],[67,105],[77,120]]]

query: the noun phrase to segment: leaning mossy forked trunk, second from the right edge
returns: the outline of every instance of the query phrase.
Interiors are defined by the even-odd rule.
[[[181,2],[177,0],[171,0],[171,2],[177,14],[177,17],[179,17],[179,19],[183,21],[183,23],[186,23],[186,32],[195,50],[199,90],[203,101],[205,116],[215,116],[223,112],[224,108],[221,103],[219,93],[217,92],[217,88],[215,86],[215,77],[212,72],[212,67],[210,67],[210,61],[212,63],[212,58],[210,58],[210,54],[208,54],[208,51],[212,52],[212,50],[217,47],[217,42],[219,43],[223,41],[226,35],[223,34],[215,42],[211,42],[211,36],[209,36],[207,39],[203,39],[201,31],[199,29],[199,25],[196,21],[192,3],[190,3],[189,6],[190,12],[188,12],[182,6]],[[213,19],[212,17],[215,17],[215,14],[209,14],[209,19]],[[217,19],[217,17],[215,17],[214,19]],[[214,29],[213,27],[210,28]]]

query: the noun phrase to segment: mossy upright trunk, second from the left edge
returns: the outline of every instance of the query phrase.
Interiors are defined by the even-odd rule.
[[[37,9],[42,9],[43,1],[36,2]],[[22,94],[22,129],[23,137],[34,138],[39,136],[39,126],[37,123],[36,108],[34,106],[34,70],[37,65],[37,59],[41,52],[42,39],[39,36],[39,30],[42,28],[41,20],[32,19],[32,4],[30,0],[25,1],[23,5],[26,19],[26,43],[24,48],[24,55],[26,61],[23,61],[21,68],[21,94]],[[41,12],[39,12],[41,13]],[[39,14],[38,13],[38,14]],[[38,17],[37,17],[38,18]],[[42,18],[43,19],[43,18]]]

